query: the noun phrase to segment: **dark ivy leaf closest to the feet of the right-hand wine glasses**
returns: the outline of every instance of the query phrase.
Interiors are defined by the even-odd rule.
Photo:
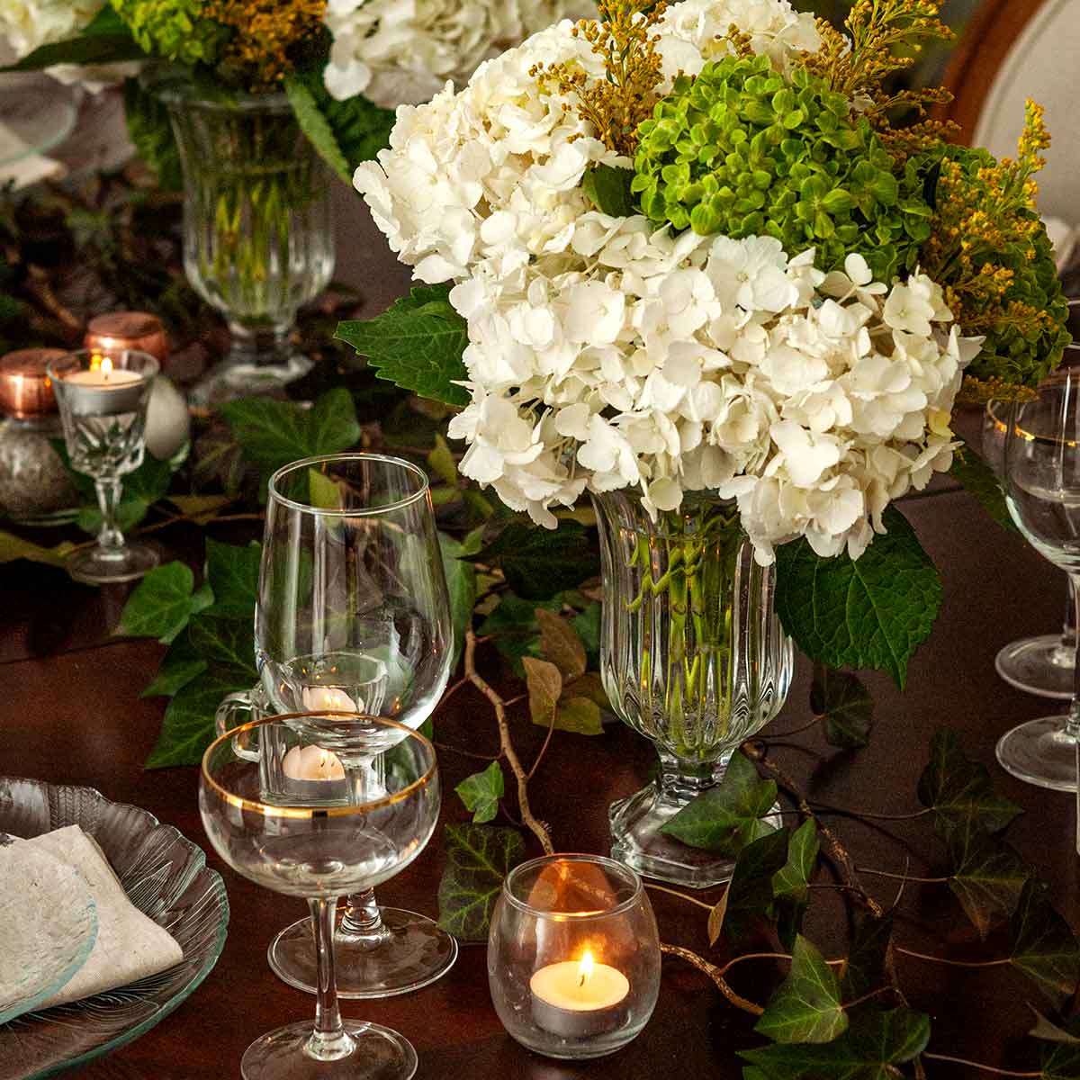
[[[919,801],[934,811],[939,833],[973,823],[987,833],[1000,833],[1023,811],[994,789],[986,767],[970,761],[960,737],[939,728],[930,744],[930,762],[919,777]]]

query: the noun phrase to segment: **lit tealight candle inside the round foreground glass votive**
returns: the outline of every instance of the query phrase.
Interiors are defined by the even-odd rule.
[[[550,963],[529,980],[532,1018],[553,1035],[580,1039],[618,1027],[630,980],[585,949],[580,960]]]

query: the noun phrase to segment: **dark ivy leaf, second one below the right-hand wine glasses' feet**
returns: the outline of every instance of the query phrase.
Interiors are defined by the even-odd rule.
[[[985,940],[1016,909],[1029,872],[1012,848],[971,821],[954,828],[948,841],[956,867],[948,887]]]

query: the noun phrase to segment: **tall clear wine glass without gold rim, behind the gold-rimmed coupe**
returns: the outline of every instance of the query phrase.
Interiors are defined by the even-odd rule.
[[[428,478],[397,458],[308,458],[270,480],[256,665],[274,711],[338,710],[418,728],[450,674],[453,627]],[[270,966],[315,991],[310,920],[271,943]],[[335,936],[338,993],[389,997],[438,978],[457,942],[428,917],[349,897]]]

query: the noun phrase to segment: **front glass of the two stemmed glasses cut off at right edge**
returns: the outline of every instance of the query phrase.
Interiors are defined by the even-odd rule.
[[[1009,512],[1040,555],[1069,576],[1080,605],[1080,372],[1062,372],[1039,388],[1038,397],[1016,402],[1004,441]],[[1058,791],[1077,786],[1080,738],[1080,669],[1065,715],[1043,716],[1007,731],[998,761],[1030,784]]]

